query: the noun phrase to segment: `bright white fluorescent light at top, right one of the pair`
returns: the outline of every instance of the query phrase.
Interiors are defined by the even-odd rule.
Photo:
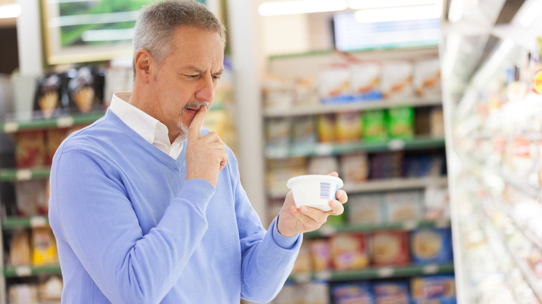
[[[404,6],[393,8],[370,8],[358,10],[354,17],[358,22],[389,22],[399,20],[432,19],[441,17],[441,6]]]

